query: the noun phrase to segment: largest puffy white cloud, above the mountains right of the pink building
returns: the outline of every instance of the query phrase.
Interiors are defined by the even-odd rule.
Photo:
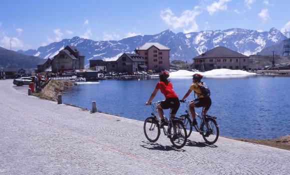
[[[161,10],[160,17],[173,29],[182,27],[183,32],[185,33],[198,31],[198,25],[195,21],[195,16],[200,14],[199,8],[199,6],[195,6],[192,10],[184,10],[179,17],[175,16],[170,8],[166,8]],[[189,26],[189,28],[185,29],[184,27],[187,26]]]

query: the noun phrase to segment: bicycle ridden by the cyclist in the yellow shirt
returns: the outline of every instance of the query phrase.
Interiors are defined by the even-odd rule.
[[[184,100],[184,103],[186,104],[186,110],[183,115],[180,115],[180,118],[183,118],[184,126],[187,130],[189,130],[187,134],[187,138],[190,136],[192,132],[192,125],[191,125],[191,119],[190,119],[190,112],[189,112],[189,103],[193,100],[186,101]],[[216,122],[216,116],[211,115],[203,115],[204,113],[204,107],[202,107],[201,115],[199,115],[197,112],[195,112],[195,116],[199,118],[199,122],[197,121],[197,124],[194,125],[194,128],[197,132],[199,132],[204,141],[208,144],[213,144],[217,141],[218,135],[219,135],[219,128]],[[191,116],[192,117],[192,116]],[[199,127],[198,127],[199,123]]]

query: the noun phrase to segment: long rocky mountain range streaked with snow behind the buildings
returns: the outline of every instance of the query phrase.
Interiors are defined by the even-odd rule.
[[[75,45],[85,55],[85,63],[89,59],[115,58],[122,52],[133,52],[145,42],[159,42],[168,46],[170,59],[183,59],[190,61],[194,56],[205,52],[215,46],[225,46],[245,55],[255,54],[264,47],[279,43],[284,35],[276,28],[259,32],[256,30],[230,28],[226,30],[199,31],[191,33],[174,33],[167,29],[153,35],[137,35],[121,40],[95,41],[78,36],[63,39],[37,50],[18,50],[18,52],[41,58],[53,57],[66,45]]]

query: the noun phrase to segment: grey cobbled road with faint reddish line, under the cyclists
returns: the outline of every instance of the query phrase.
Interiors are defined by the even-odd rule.
[[[182,149],[143,122],[27,96],[0,80],[0,174],[289,174],[290,151],[193,133]],[[222,128],[220,128],[222,129]]]

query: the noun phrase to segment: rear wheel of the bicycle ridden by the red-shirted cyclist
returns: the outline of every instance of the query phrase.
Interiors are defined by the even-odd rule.
[[[175,120],[173,121],[174,127],[176,128],[176,131],[174,131],[174,127],[172,125],[169,125],[169,134],[172,134],[170,137],[170,141],[176,148],[180,149],[183,147],[186,143],[187,137],[186,137],[186,129],[184,127],[184,124],[182,121]]]

